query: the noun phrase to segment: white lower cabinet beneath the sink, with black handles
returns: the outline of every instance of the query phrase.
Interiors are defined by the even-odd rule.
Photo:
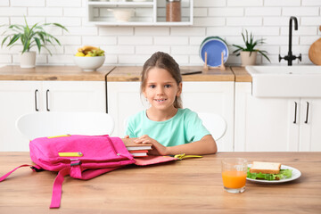
[[[308,122],[307,102],[309,102]],[[321,151],[321,99],[258,98],[235,83],[235,152]]]

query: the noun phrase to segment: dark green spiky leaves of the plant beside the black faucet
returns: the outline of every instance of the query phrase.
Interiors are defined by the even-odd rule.
[[[267,51],[263,51],[263,50],[259,50],[259,49],[255,49],[256,45],[262,45],[264,44],[264,38],[258,39],[258,40],[254,40],[254,35],[251,33],[250,37],[249,37],[249,33],[248,31],[245,29],[246,31],[246,36],[244,37],[244,34],[242,33],[242,37],[243,37],[243,41],[245,44],[245,47],[242,47],[240,45],[234,45],[235,47],[237,47],[237,49],[233,52],[233,53],[237,53],[236,55],[240,55],[240,52],[250,52],[250,55],[252,52],[259,52],[261,53],[267,60],[268,62],[270,62],[270,60],[268,59],[267,56]]]

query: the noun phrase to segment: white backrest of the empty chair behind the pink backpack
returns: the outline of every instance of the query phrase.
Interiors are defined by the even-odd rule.
[[[41,111],[22,115],[16,128],[32,140],[41,136],[111,135],[114,120],[103,112]]]

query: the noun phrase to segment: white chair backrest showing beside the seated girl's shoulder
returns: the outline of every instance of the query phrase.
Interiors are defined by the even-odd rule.
[[[202,119],[205,128],[210,131],[214,140],[218,141],[226,133],[226,120],[222,116],[215,113],[198,112],[198,116]]]

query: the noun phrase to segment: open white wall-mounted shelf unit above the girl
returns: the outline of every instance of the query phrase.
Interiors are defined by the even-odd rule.
[[[112,9],[132,9],[129,21],[117,21]],[[88,0],[88,21],[95,25],[108,26],[187,26],[193,25],[193,0],[181,1],[181,21],[166,21],[165,0],[105,1]]]

